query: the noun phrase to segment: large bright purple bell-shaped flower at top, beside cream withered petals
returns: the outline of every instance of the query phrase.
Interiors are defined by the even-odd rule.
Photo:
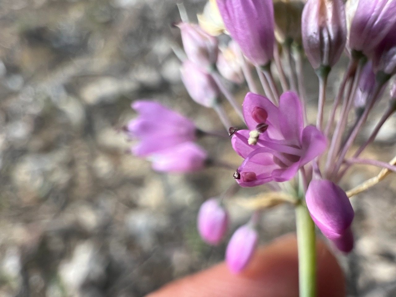
[[[246,57],[257,66],[267,65],[274,54],[272,0],[217,0],[224,25]]]

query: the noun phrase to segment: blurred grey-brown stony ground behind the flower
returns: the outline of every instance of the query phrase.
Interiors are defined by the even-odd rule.
[[[205,2],[184,4],[196,21]],[[234,183],[233,171],[156,173],[126,153],[121,132],[137,99],[221,129],[181,84],[179,20],[176,0],[0,0],[0,296],[140,297],[223,259],[225,244],[199,238],[196,213]],[[305,64],[314,112],[317,78]],[[333,72],[329,94],[342,74]],[[242,102],[246,87],[228,86]],[[395,126],[392,118],[366,156],[396,154]],[[241,162],[229,143],[202,144]],[[356,166],[343,187],[378,171]],[[335,251],[350,296],[396,296],[395,193],[391,175],[353,199],[356,248]],[[233,229],[249,217],[230,212]],[[262,244],[293,232],[293,209],[269,209],[261,225]]]

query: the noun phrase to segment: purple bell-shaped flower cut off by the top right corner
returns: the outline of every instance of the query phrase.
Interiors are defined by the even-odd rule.
[[[349,47],[370,55],[396,23],[396,0],[359,0],[352,19]]]

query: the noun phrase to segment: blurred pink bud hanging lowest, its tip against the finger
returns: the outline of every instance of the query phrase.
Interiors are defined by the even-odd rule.
[[[239,227],[228,242],[226,262],[234,273],[242,271],[255,251],[259,235],[249,224]]]

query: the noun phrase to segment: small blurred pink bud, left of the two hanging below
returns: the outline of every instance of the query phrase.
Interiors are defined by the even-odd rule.
[[[203,240],[216,246],[224,238],[228,228],[228,213],[219,200],[206,200],[198,213],[198,231]]]

